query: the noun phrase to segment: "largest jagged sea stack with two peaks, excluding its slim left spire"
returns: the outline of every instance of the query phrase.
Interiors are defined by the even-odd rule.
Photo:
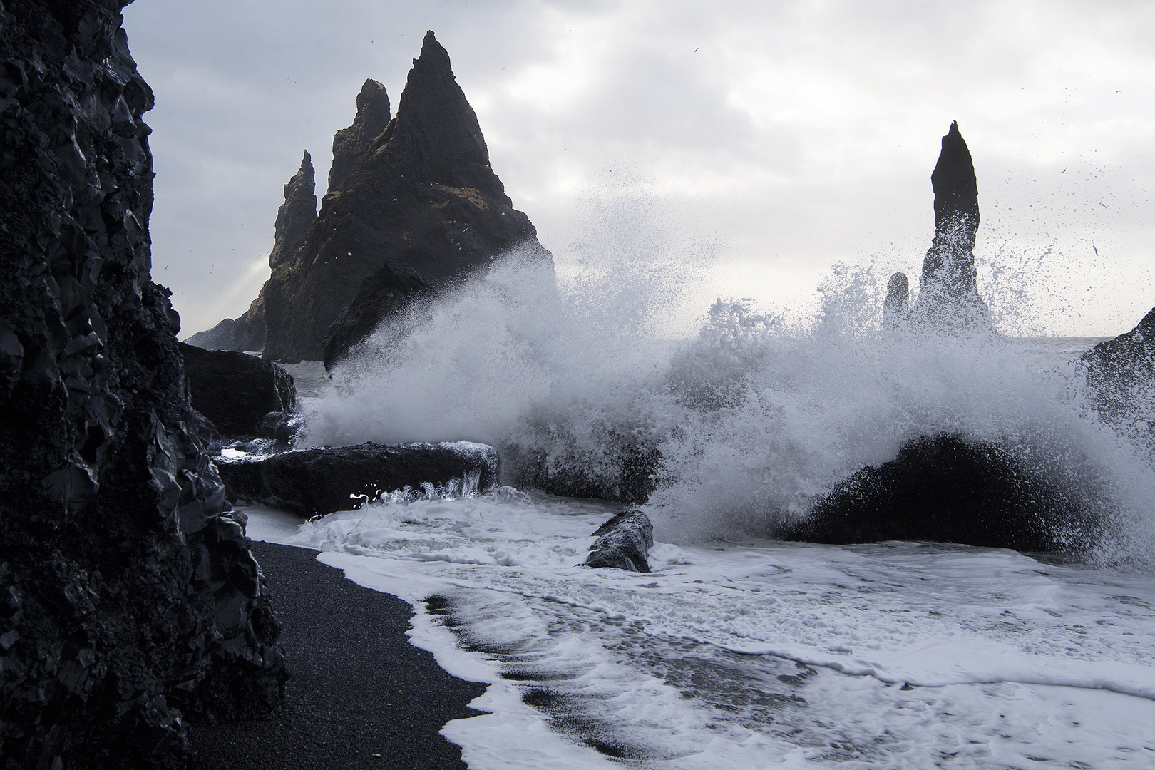
[[[477,115],[432,32],[396,118],[373,136],[387,115],[383,90],[368,81],[357,120],[334,140],[335,173],[316,222],[262,290],[267,358],[322,360],[330,324],[387,262],[408,264],[438,290],[517,244],[552,264],[490,167]]]

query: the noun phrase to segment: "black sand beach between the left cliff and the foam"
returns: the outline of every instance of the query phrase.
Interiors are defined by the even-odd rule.
[[[221,770],[464,768],[438,734],[485,690],[405,637],[412,611],[348,581],[316,552],[253,543],[284,623],[290,679],[273,719],[193,725],[198,767]]]

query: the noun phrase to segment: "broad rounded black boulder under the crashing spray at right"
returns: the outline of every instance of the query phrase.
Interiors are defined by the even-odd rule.
[[[932,540],[1019,551],[1078,551],[1098,518],[1050,474],[957,435],[921,438],[859,470],[778,533],[810,543]]]

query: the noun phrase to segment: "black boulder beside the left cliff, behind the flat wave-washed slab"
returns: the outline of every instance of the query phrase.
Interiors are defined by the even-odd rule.
[[[193,409],[225,436],[258,435],[269,412],[297,408],[292,375],[273,361],[180,343]]]

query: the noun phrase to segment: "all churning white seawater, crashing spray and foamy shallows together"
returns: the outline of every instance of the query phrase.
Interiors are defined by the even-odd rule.
[[[1097,341],[886,327],[878,277],[841,267],[812,313],[718,301],[669,341],[661,292],[603,278],[558,290],[514,254],[331,377],[293,374],[308,444],[483,441],[606,483],[656,449],[651,573],[578,566],[618,508],[513,486],[248,509],[252,537],[405,598],[413,643],[490,683],[491,713],[445,728],[471,768],[1155,767],[1155,414],[1095,411]],[[939,433],[1103,526],[1045,558],[768,539]]]

